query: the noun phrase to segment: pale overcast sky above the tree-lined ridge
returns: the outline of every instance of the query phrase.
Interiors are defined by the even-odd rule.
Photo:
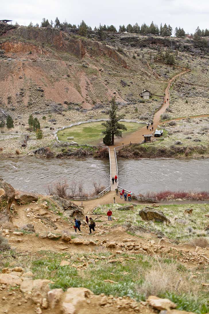
[[[196,27],[209,29],[208,0],[0,0],[0,19],[11,19],[20,25],[41,23],[45,17],[80,24],[83,19],[92,28],[100,23],[115,25],[143,22],[183,27],[194,33]]]

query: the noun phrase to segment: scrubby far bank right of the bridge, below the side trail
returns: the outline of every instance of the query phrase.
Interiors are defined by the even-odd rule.
[[[209,156],[209,117],[185,118],[162,124],[169,129],[162,141],[131,145],[119,151],[122,158],[173,158]]]

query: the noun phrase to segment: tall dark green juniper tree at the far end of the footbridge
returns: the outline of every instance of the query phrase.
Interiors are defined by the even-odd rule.
[[[102,123],[102,125],[106,127],[106,130],[102,131],[102,134],[105,134],[103,142],[106,145],[114,145],[114,136],[120,138],[122,137],[121,130],[127,130],[127,127],[124,124],[118,123],[120,119],[124,118],[124,115],[117,115],[118,105],[116,104],[114,97],[110,103],[110,110],[108,111],[110,120]]]

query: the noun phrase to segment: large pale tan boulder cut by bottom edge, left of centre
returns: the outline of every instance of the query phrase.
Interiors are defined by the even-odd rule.
[[[81,308],[86,307],[86,299],[91,295],[93,295],[93,293],[86,288],[68,288],[61,305],[62,313],[79,313]]]

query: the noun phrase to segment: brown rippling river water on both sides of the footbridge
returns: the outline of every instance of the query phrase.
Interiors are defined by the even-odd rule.
[[[45,159],[38,157],[0,159],[0,176],[14,188],[45,194],[45,186],[67,179],[83,181],[90,192],[92,182],[109,186],[109,160]],[[146,191],[209,190],[209,158],[118,159],[119,185],[134,193]]]

